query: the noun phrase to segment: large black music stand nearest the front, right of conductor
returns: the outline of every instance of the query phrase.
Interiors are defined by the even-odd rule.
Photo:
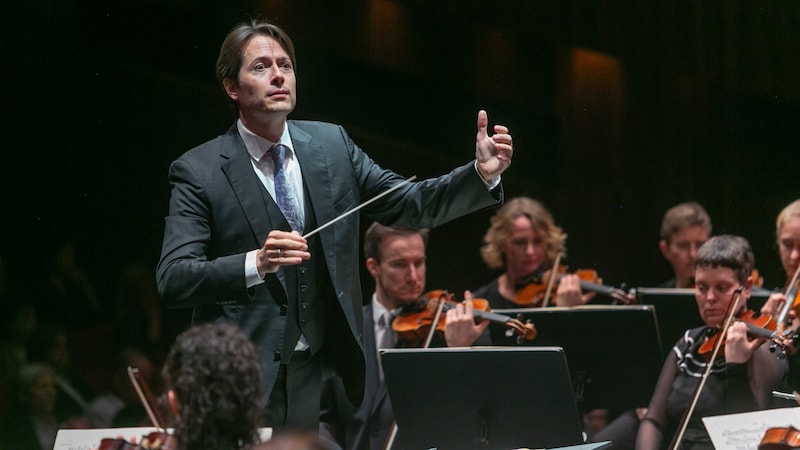
[[[564,352],[556,347],[382,350],[404,450],[583,443]]]

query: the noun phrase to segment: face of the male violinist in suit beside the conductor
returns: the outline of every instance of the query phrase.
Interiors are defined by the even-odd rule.
[[[378,262],[367,259],[378,299],[388,309],[419,300],[425,289],[425,242],[422,236],[385,236]]]

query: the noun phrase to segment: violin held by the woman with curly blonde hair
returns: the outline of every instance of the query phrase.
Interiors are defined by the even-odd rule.
[[[545,298],[548,297],[548,289],[557,284],[566,273],[567,267],[559,265],[555,273],[551,270],[545,270],[528,276],[519,283],[522,287],[517,290],[512,301],[525,308],[542,306]],[[580,286],[583,291],[607,295],[613,298],[615,302],[624,305],[636,303],[634,295],[621,289],[601,284],[600,276],[594,269],[578,269],[574,273],[580,278]]]

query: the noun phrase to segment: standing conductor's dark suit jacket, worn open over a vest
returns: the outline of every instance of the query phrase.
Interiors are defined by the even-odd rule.
[[[340,126],[289,121],[289,134],[303,174],[308,210],[325,224],[365,200],[401,183],[356,146]],[[227,319],[239,324],[259,347],[269,397],[280,364],[287,296],[283,269],[266,283],[245,286],[244,261],[273,229],[289,230],[286,219],[256,176],[234,125],[228,132],[172,163],[172,188],[161,259],[159,292],[168,307],[193,307],[193,321]],[[404,186],[364,207],[383,224],[435,227],[502,202],[502,189],[489,192],[470,162],[447,175]],[[306,230],[308,232],[310,230]],[[325,348],[344,380],[348,396],[360,401],[364,388],[359,216],[351,214],[323,229],[324,270],[330,275],[341,320],[328,320]],[[331,342],[333,340],[334,342]]]

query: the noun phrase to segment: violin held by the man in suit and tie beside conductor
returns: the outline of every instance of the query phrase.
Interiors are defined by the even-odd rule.
[[[416,303],[404,305],[403,311],[392,322],[392,329],[397,333],[397,338],[406,342],[418,342],[429,335],[434,320],[436,331],[444,332],[446,312],[460,302],[455,296],[442,289],[425,293]],[[536,328],[531,323],[522,323],[518,319],[503,314],[493,313],[489,310],[489,301],[482,298],[472,299],[473,314],[476,319],[488,320],[499,323],[512,330],[519,339],[533,340],[536,338]],[[436,317],[438,314],[438,318]]]

